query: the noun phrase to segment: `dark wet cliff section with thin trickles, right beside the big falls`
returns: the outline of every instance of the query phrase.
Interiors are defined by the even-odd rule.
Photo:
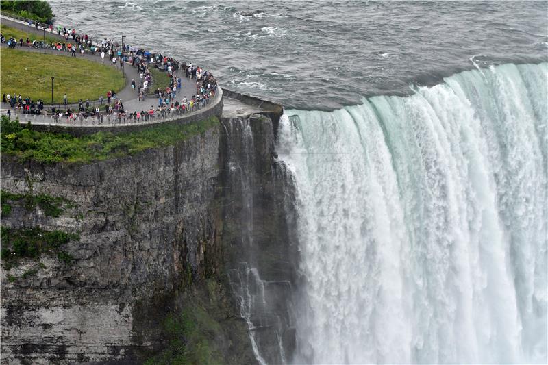
[[[275,160],[277,120],[262,114],[225,118],[221,142],[223,247],[229,283],[259,362],[291,362],[295,349],[292,294],[297,240],[295,195]]]

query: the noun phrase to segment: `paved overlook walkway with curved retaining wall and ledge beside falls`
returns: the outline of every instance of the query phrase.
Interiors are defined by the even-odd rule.
[[[5,16],[5,14],[0,14],[0,18],[2,23],[9,27],[21,29],[28,33],[34,33],[37,36],[43,36],[42,29],[36,29],[36,27],[34,26],[29,27],[27,22],[21,19],[15,19],[11,17],[8,18],[8,16]],[[54,32],[49,32],[49,30],[46,30],[46,34],[49,37],[59,38],[60,41],[65,42],[64,36],[59,36],[55,32],[55,29]],[[7,45],[3,44],[1,47],[2,51],[8,51]],[[43,49],[34,49],[25,46],[17,46],[16,49],[36,53],[44,52]],[[55,49],[47,48],[46,52],[47,54],[53,55],[63,55],[66,57],[71,56],[71,53],[68,51],[57,51]],[[85,58],[87,60],[99,62],[102,64],[103,62],[99,54],[100,53],[96,53],[95,55],[91,53],[84,53],[84,55],[82,55],[81,53],[77,52],[76,55],[77,58]],[[118,65],[112,65],[112,62],[109,62],[108,58],[104,62],[104,64],[108,64],[111,67],[119,68]],[[118,99],[116,100],[121,99],[123,101],[124,109],[127,112],[147,112],[151,108],[155,110],[158,106],[158,98],[147,97],[147,99],[139,101],[137,91],[131,89],[132,79],[135,79],[137,84],[140,81],[140,76],[136,68],[131,66],[131,64],[129,64],[128,62],[125,62],[125,67],[123,68],[123,71],[126,84],[123,90],[117,93]],[[188,79],[185,77],[185,75],[179,75],[178,71],[175,72],[175,75],[180,76],[182,80],[182,88],[177,92],[177,100],[182,99],[184,96],[186,96],[187,99],[190,99],[190,97],[194,95],[196,91],[195,80]],[[3,90],[3,92],[5,93],[13,91],[16,92],[16,90]],[[107,91],[108,90],[105,90],[105,94]],[[103,95],[103,98],[105,99],[103,101],[104,104],[106,103],[105,95]],[[90,101],[90,108],[94,108],[98,103],[99,101]],[[47,105],[45,102],[45,108],[51,108],[51,106],[51,104]],[[58,106],[64,108],[65,105],[53,104],[53,106],[55,106],[55,108],[58,108]],[[77,108],[77,103],[71,103],[68,106],[71,108]],[[102,122],[98,116],[88,118],[79,116],[74,119],[69,119],[65,116],[56,118],[53,115],[21,114],[16,113],[14,109],[11,109],[9,104],[0,103],[0,114],[5,115],[8,109],[10,109],[11,111],[12,118],[19,118],[21,123],[27,123],[28,121],[30,121],[32,125],[36,127],[36,129],[46,131],[62,131],[64,133],[74,134],[77,136],[92,134],[97,131],[110,131],[113,133],[122,131],[136,131],[150,125],[157,125],[160,123],[190,123],[191,121],[199,121],[205,118],[209,118],[213,115],[221,116],[222,118],[238,118],[251,114],[265,114],[273,117],[273,120],[277,122],[279,121],[279,116],[281,116],[283,113],[282,105],[270,101],[264,101],[256,97],[252,97],[251,95],[240,94],[232,90],[223,90],[220,86],[218,87],[214,98],[208,101],[208,103],[201,109],[192,110],[191,112],[175,111],[164,114],[154,112],[152,118],[149,121],[143,121],[142,118],[141,121],[134,121],[130,120],[128,116],[119,116],[117,114],[112,114],[110,116],[105,116],[103,114]]]

